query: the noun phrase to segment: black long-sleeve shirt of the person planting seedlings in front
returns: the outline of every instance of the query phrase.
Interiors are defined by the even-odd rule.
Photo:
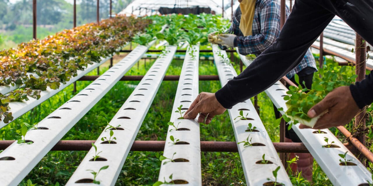
[[[218,90],[216,99],[231,108],[269,88],[300,63],[335,15],[373,44],[373,0],[297,0],[276,42]],[[372,103],[373,72],[350,90],[360,108]]]

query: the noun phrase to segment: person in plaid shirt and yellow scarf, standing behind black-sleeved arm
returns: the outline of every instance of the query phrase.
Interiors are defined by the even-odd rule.
[[[252,4],[255,4],[255,9],[253,9],[253,17],[251,18],[251,35],[244,34],[240,29],[242,28],[240,26],[242,12],[241,8],[238,7],[233,15],[231,27],[225,32],[226,34],[217,36],[222,40],[217,41],[221,49],[227,49],[227,47],[237,47],[239,53],[242,55],[255,54],[258,56],[261,52],[271,46],[273,42],[275,42],[280,33],[280,1],[254,1],[255,0],[251,1]],[[243,2],[241,2],[240,6],[247,6],[250,1],[247,1],[244,4],[242,3]],[[289,8],[286,6],[286,19],[288,18],[289,14]],[[209,38],[211,38],[211,36],[214,34],[215,33],[210,33]],[[303,86],[311,89],[313,73],[315,71],[317,71],[316,62],[310,48],[308,48],[307,53],[300,64],[286,74],[286,77],[296,83],[294,74],[298,74],[300,82],[304,81]],[[273,106],[273,108],[275,110],[276,118],[280,118],[280,113],[276,107]],[[295,134],[293,129],[287,129],[288,127],[286,127],[285,133],[286,142],[302,142],[297,134]],[[307,180],[312,181],[313,157],[311,154],[292,153],[290,158],[295,157],[295,155],[299,157],[299,160],[297,164],[292,165],[292,169],[302,171],[303,176]]]

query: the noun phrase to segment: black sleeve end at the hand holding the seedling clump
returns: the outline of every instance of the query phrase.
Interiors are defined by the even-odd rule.
[[[373,70],[364,80],[351,84],[350,91],[360,109],[373,103]]]

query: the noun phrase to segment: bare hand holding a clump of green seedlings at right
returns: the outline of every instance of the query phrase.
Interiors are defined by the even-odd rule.
[[[308,111],[307,115],[310,118],[314,118],[325,110],[327,110],[327,113],[317,120],[313,127],[314,129],[324,129],[345,125],[354,118],[354,116],[360,111],[360,108],[352,97],[350,88],[348,86],[342,86],[327,94],[323,100],[314,105]],[[303,129],[310,127],[301,124],[299,128]]]

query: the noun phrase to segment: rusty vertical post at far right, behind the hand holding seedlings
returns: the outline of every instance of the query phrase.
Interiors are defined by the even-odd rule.
[[[356,74],[357,78],[356,81],[361,81],[365,78],[365,62],[366,62],[366,42],[363,42],[363,38],[361,38],[360,35],[356,34],[356,44],[355,44],[355,57],[356,57]],[[355,123],[354,123],[354,129],[352,131],[358,131],[361,132],[360,134],[356,135],[356,138],[366,146],[365,141],[365,128],[366,128],[366,118],[365,118],[365,110],[364,107],[361,112],[356,116]],[[355,134],[352,134],[355,136]],[[359,157],[360,161],[364,160],[364,157]],[[362,161],[365,165],[365,161]]]

